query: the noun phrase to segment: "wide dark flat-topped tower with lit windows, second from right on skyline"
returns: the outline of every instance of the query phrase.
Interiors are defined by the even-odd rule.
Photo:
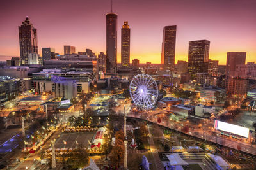
[[[188,73],[196,80],[196,73],[208,73],[210,41],[189,41]]]

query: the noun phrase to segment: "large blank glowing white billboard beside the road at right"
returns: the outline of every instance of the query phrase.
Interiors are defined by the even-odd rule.
[[[249,138],[249,128],[242,127],[239,125],[228,124],[226,122],[221,122],[220,120],[215,120],[214,128],[220,131],[230,132],[232,134],[237,134],[245,138]]]

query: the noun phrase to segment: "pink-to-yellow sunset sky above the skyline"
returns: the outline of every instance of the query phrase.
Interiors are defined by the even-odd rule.
[[[38,48],[76,46],[106,53],[106,13],[110,0],[9,0],[0,4],[0,55],[19,56],[18,26],[29,16],[38,31]],[[159,63],[163,27],[177,25],[177,60],[188,60],[188,41],[211,41],[210,59],[225,64],[227,52],[247,52],[256,61],[255,0],[113,0],[118,14],[118,62],[124,21],[131,27],[131,60]],[[3,58],[0,60],[4,60]]]

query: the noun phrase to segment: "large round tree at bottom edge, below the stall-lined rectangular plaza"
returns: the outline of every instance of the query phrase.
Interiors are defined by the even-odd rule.
[[[72,150],[70,155],[68,156],[68,166],[70,166],[72,169],[81,168],[86,166],[89,161],[89,155],[86,149],[84,149],[82,146],[75,148]]]

